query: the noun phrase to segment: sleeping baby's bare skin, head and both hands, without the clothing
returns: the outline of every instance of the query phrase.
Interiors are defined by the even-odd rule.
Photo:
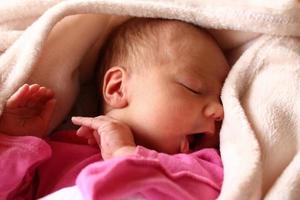
[[[168,154],[218,145],[220,92],[229,66],[213,38],[176,20],[131,19],[105,45],[99,71],[102,115],[73,117],[77,135],[97,141],[104,159],[137,145]],[[0,132],[45,135],[51,89],[24,85],[7,101]]]

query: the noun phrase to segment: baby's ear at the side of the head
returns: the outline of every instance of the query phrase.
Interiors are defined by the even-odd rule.
[[[112,108],[124,108],[128,105],[126,84],[128,74],[126,69],[114,66],[107,70],[103,80],[103,97],[105,103]]]

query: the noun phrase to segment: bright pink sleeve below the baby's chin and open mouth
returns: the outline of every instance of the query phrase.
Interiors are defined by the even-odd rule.
[[[216,150],[168,155],[137,147],[135,156],[89,165],[77,185],[85,199],[216,199],[223,179]]]

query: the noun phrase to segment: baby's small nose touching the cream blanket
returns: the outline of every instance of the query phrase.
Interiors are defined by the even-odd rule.
[[[221,121],[224,117],[223,106],[220,102],[210,102],[204,110],[204,115],[215,121]]]

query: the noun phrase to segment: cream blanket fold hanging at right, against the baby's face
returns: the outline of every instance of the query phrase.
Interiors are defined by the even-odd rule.
[[[236,182],[241,188],[231,194],[239,198],[248,192],[245,199],[265,195],[295,199],[299,180],[290,176],[299,176],[295,169],[300,162],[299,44],[295,38],[261,37],[231,70],[222,98],[226,114],[221,130],[223,191]],[[273,189],[274,183],[281,189]],[[228,194],[224,199],[237,198]]]

